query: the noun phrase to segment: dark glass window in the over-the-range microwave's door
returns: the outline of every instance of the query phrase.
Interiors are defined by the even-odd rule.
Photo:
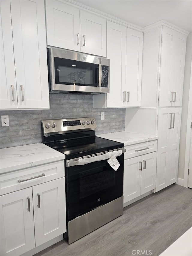
[[[98,86],[98,64],[57,57],[54,60],[56,84]]]

